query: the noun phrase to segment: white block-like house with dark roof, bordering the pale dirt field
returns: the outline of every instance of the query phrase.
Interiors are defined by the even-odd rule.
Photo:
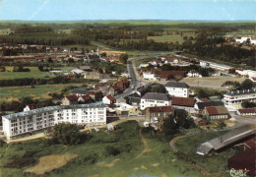
[[[177,97],[188,97],[189,96],[189,86],[185,83],[177,82],[167,82],[164,85],[167,93],[171,96]]]

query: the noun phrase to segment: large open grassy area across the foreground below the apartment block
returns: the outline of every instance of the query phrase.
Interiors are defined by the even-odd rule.
[[[145,144],[150,150],[142,153]],[[106,147],[117,148],[120,153],[110,155]],[[17,158],[25,158],[29,152],[30,158],[35,159],[31,164],[14,168],[5,167]],[[78,157],[65,166],[51,171],[47,176],[200,176],[193,166],[173,154],[168,144],[149,137],[142,142],[138,123],[134,121],[120,124],[114,132],[94,132],[88,135],[86,142],[77,146],[45,146],[43,141],[38,139],[13,143],[8,148],[1,148],[1,153],[2,177],[24,176],[23,171],[35,165],[39,157],[50,154],[69,154]]]

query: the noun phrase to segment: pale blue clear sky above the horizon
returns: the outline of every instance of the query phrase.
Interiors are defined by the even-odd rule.
[[[0,20],[255,21],[256,0],[0,0]]]

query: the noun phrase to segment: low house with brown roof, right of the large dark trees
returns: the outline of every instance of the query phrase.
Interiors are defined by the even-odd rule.
[[[229,119],[230,115],[224,106],[207,106],[203,111],[209,120],[224,120]]]

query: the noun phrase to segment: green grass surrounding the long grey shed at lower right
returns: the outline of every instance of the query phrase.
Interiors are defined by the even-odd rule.
[[[229,173],[226,172],[228,170],[227,160],[238,152],[237,149],[228,148],[211,156],[203,156],[196,153],[196,148],[198,148],[200,144],[219,137],[224,133],[225,132],[215,132],[186,137],[178,140],[175,143],[175,147],[205,168],[213,177],[229,177]]]

